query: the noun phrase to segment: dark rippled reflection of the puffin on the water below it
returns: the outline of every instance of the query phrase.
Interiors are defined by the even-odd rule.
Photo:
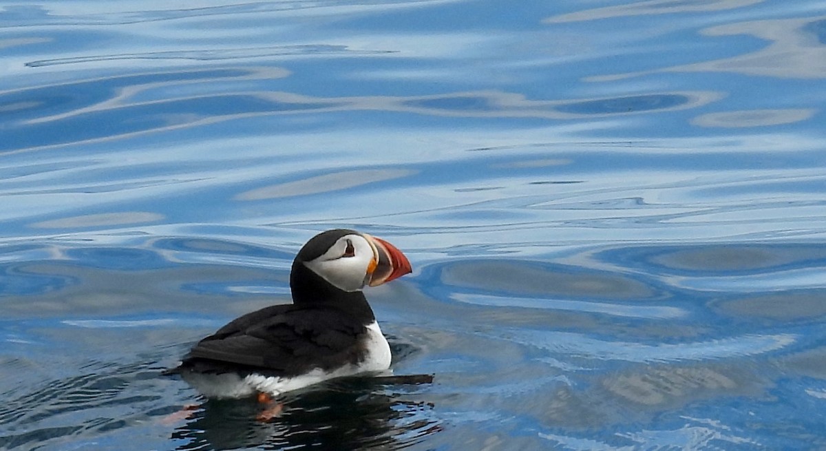
[[[341,378],[288,394],[280,400],[282,412],[267,421],[256,419],[262,407],[254,398],[208,400],[172,438],[186,440],[178,447],[182,450],[401,449],[442,430],[432,415],[433,404],[407,394],[414,390],[411,384],[431,380]]]

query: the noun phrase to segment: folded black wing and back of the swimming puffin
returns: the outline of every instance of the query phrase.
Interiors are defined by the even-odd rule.
[[[332,308],[269,306],[202,339],[181,368],[196,371],[263,370],[283,376],[358,363],[365,326]],[[240,367],[240,368],[239,368]]]

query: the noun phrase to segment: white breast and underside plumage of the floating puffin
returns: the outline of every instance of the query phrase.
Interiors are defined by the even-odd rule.
[[[181,377],[203,396],[210,398],[241,398],[252,396],[258,392],[265,392],[278,396],[283,392],[297,390],[318,382],[343,376],[353,376],[359,373],[378,373],[390,368],[392,355],[390,344],[382,335],[378,323],[373,321],[367,326],[367,354],[363,362],[358,365],[347,364],[333,371],[324,371],[316,368],[309,373],[296,377],[275,377],[250,374],[241,377],[235,373],[203,374],[183,372]]]

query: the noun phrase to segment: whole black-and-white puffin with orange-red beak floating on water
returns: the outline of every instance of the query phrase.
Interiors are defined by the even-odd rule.
[[[411,273],[385,240],[335,229],[292,262],[292,304],[240,316],[199,341],[177,368],[203,396],[278,396],[334,377],[390,368],[390,346],[362,288]]]

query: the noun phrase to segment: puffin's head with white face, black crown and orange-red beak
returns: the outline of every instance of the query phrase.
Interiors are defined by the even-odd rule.
[[[327,230],[312,237],[298,251],[296,262],[345,292],[375,287],[412,271],[396,246],[349,229]]]

